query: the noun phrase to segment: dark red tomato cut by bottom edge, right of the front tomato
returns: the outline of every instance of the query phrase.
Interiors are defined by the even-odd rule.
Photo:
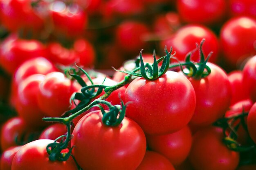
[[[136,170],[175,170],[164,156],[157,152],[146,151],[146,154]]]

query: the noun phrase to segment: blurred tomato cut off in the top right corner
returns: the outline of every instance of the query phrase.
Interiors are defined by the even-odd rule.
[[[256,18],[256,4],[254,0],[228,0],[229,15],[234,16],[250,16]]]

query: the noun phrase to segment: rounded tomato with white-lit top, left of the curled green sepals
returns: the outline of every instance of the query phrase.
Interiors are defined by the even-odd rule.
[[[70,97],[76,92],[70,79],[61,72],[45,76],[37,94],[39,108],[49,117],[60,117],[70,108]]]

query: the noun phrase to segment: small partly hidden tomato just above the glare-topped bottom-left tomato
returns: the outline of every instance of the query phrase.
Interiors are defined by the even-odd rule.
[[[41,132],[39,139],[55,140],[57,137],[60,137],[61,135],[65,135],[66,133],[67,133],[66,125],[56,123],[45,128],[43,132]],[[61,141],[61,139],[58,141]]]

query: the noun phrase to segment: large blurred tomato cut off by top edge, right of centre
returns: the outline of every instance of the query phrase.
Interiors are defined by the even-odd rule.
[[[184,22],[213,25],[225,19],[225,0],[177,0],[177,10]]]

